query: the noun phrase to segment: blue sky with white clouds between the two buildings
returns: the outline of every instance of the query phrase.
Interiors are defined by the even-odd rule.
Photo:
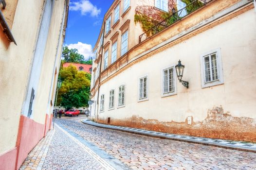
[[[85,60],[100,33],[103,17],[114,0],[70,0],[65,46],[77,49]]]

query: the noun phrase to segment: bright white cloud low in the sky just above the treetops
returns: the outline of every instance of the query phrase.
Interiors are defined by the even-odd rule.
[[[89,57],[93,56],[91,44],[84,44],[84,43],[78,42],[77,44],[69,44],[68,48],[77,49],[78,53],[84,55],[85,60],[88,60]]]

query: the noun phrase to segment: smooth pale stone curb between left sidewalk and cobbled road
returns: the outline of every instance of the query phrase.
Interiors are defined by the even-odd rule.
[[[99,156],[101,159],[105,160],[110,166],[112,166],[116,170],[131,170],[126,164],[115,158],[114,156],[110,155],[109,153],[106,153],[99,147],[93,145],[91,142],[84,139],[82,136],[79,136],[78,134],[74,133],[73,131],[65,128],[62,124],[56,123],[57,126],[62,128],[64,131],[66,131],[68,134],[73,136],[76,140],[80,141],[83,145],[91,149],[92,152],[94,152],[97,156]]]

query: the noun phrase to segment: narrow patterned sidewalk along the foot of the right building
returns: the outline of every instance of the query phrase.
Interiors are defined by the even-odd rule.
[[[183,142],[196,143],[196,144],[207,145],[207,146],[216,146],[216,147],[220,147],[220,148],[256,153],[256,143],[167,134],[167,133],[149,131],[149,130],[144,130],[144,129],[129,128],[129,127],[124,127],[124,126],[114,126],[114,125],[109,125],[109,124],[101,124],[101,123],[97,123],[97,122],[94,122],[94,121],[91,121],[88,119],[83,119],[81,121],[85,124],[96,126],[96,127],[119,130],[119,131],[129,132],[129,133],[138,134],[138,135],[178,140],[178,141],[183,141]]]

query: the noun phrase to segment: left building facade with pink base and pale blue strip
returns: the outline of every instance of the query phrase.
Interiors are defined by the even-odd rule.
[[[51,129],[69,0],[0,1],[0,170]]]

